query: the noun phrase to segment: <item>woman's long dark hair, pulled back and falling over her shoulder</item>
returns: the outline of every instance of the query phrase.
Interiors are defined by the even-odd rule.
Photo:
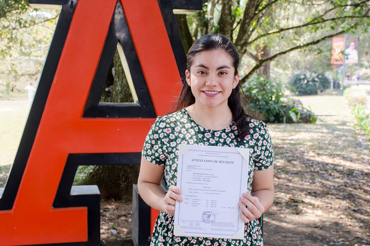
[[[205,35],[193,43],[188,52],[188,71],[190,72],[190,67],[193,64],[193,60],[196,54],[202,51],[211,51],[215,49],[222,49],[231,56],[235,69],[234,76],[237,75],[240,62],[239,53],[231,40],[226,38],[222,34]],[[181,110],[182,108],[188,107],[194,103],[195,97],[191,92],[191,87],[188,85],[188,83],[183,82],[181,92],[176,99],[175,105],[172,108],[171,112]],[[249,125],[247,124],[245,118],[258,117],[250,115],[249,104],[242,90],[242,86],[240,86],[240,83],[238,83],[238,85],[232,90],[231,95],[228,99],[228,106],[234,117],[235,125],[238,128],[238,138],[243,141],[245,136],[249,133]]]

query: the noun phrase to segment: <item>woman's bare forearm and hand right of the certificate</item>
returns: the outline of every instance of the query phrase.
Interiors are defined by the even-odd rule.
[[[242,208],[241,216],[244,222],[259,218],[267,212],[274,202],[274,167],[266,170],[255,170],[252,181],[252,193],[243,194],[239,202]],[[247,206],[247,207],[245,207]]]

